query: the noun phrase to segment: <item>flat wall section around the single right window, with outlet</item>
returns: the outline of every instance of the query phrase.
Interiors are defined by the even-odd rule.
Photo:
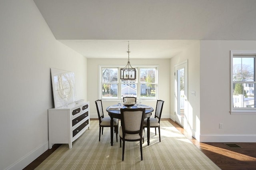
[[[201,41],[200,47],[200,141],[256,142],[256,115],[229,113],[230,50],[256,50],[256,41]]]

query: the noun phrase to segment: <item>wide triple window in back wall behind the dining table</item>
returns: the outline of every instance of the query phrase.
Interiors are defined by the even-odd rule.
[[[157,67],[136,67],[135,80],[121,80],[121,67],[100,67],[101,99],[122,99],[126,96],[140,99],[157,98]],[[140,76],[138,76],[140,75]]]

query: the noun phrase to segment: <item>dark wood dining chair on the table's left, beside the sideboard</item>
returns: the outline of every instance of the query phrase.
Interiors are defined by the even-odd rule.
[[[103,135],[103,127],[110,127],[110,117],[104,117],[104,112],[102,108],[102,101],[96,100],[95,101],[97,112],[98,112],[98,118],[99,118],[99,126],[100,126],[100,133]],[[118,141],[118,119],[113,118],[114,122],[114,131],[116,133],[116,142]],[[101,132],[102,129],[102,132]],[[99,133],[99,141],[100,141],[100,133]]]

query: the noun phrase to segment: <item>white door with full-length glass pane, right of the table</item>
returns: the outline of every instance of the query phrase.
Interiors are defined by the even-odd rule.
[[[175,65],[175,121],[188,126],[188,61]]]

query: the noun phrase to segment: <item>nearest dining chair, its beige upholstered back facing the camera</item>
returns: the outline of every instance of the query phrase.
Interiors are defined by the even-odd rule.
[[[143,121],[145,117],[145,108],[138,109],[120,109],[121,126],[119,128],[120,148],[123,141],[122,161],[124,161],[125,141],[140,141],[140,156],[142,157],[142,140],[144,139]]]

